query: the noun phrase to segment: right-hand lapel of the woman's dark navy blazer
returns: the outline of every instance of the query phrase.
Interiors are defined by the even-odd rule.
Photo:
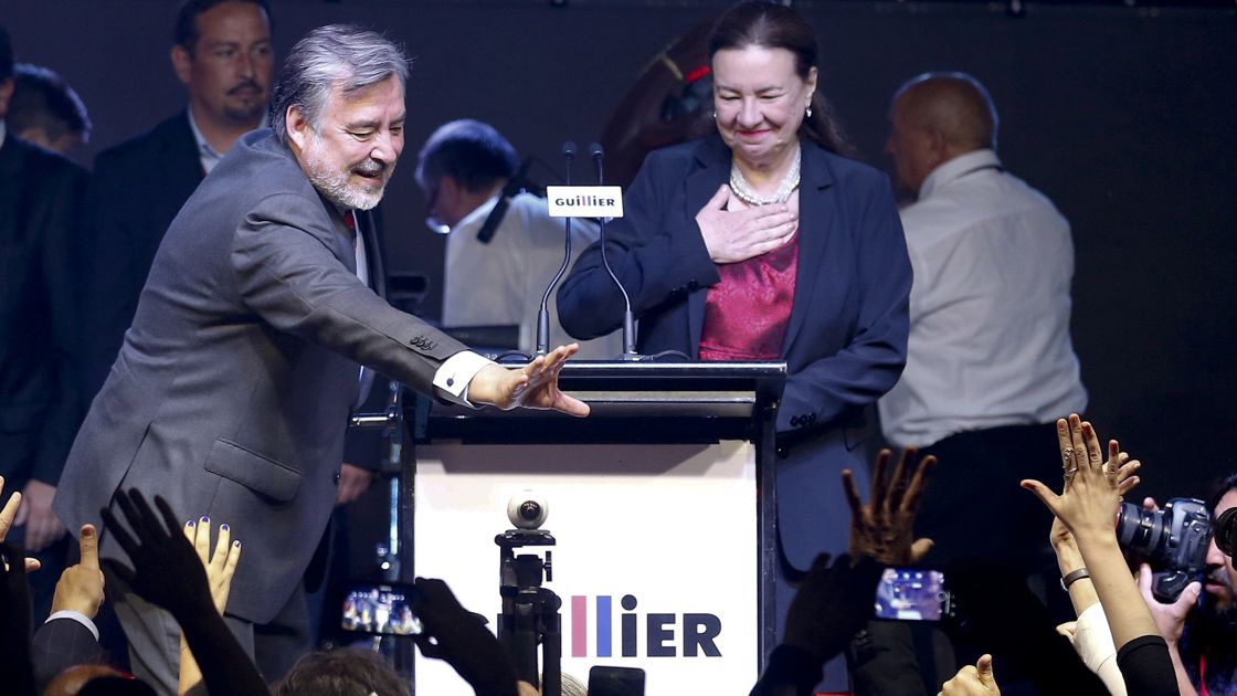
[[[834,234],[836,217],[835,198],[831,194],[833,172],[825,154],[818,146],[803,142],[803,163],[799,175],[799,254],[795,266],[794,302],[790,321],[782,342],[782,355],[790,354],[790,346],[804,321],[811,313],[811,298],[816,281],[829,264],[823,263],[829,240]]]

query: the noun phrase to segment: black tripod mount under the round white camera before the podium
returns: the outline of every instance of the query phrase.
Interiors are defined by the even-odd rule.
[[[494,537],[499,545],[499,593],[502,614],[499,617],[499,640],[516,661],[516,676],[533,686],[541,684],[543,696],[563,694],[563,619],[558,611],[563,601],[552,589],[542,587],[553,581],[550,551],[546,560],[536,554],[515,555],[521,546],[553,546],[554,536],[539,529],[510,529]],[[541,644],[543,674],[538,677],[537,645]]]

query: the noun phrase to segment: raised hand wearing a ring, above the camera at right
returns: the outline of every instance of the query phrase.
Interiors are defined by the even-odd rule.
[[[1023,481],[1022,487],[1034,493],[1075,537],[1113,534],[1112,520],[1121,497],[1138,484],[1134,472],[1142,464],[1131,461],[1116,440],[1108,441],[1105,458],[1095,428],[1077,414],[1056,421],[1056,437],[1065,471],[1061,494],[1032,479]]]

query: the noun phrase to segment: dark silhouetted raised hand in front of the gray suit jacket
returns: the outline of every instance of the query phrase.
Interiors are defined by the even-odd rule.
[[[156,513],[137,489],[118,490],[116,504],[132,533],[125,529],[111,510],[99,511],[108,531],[129,555],[132,568],[116,560],[104,566],[147,602],[163,607],[177,620],[213,608],[207,571],[193,545],[181,531],[181,523],[161,495],[155,497]],[[209,609],[208,609],[209,611]]]

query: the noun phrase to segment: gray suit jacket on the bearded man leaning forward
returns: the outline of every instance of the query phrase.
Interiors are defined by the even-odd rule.
[[[251,133],[168,228],[56,511],[78,529],[136,487],[228,523],[245,549],[228,611],[266,623],[330,516],[357,362],[428,393],[464,349],[357,280],[339,213]]]

